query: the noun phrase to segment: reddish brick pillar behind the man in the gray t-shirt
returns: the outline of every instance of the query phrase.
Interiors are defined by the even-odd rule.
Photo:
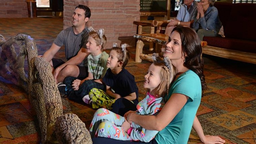
[[[72,25],[72,13],[78,4],[91,10],[88,26],[105,30],[105,48],[111,48],[113,42],[135,46],[137,26],[133,22],[140,21],[140,0],[64,0],[64,29]]]

